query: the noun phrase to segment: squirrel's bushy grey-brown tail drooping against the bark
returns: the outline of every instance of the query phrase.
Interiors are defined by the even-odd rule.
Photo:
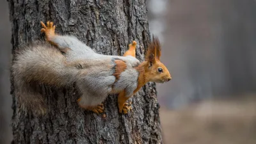
[[[65,86],[73,83],[76,68],[68,67],[65,56],[52,45],[36,42],[15,52],[12,65],[15,96],[20,108],[34,114],[44,114],[44,97],[36,92],[33,84]]]

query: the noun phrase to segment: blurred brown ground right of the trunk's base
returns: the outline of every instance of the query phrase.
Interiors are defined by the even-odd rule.
[[[160,110],[165,144],[255,144],[256,99],[208,100]]]

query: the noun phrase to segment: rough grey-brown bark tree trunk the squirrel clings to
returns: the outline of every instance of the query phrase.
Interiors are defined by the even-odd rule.
[[[74,35],[102,54],[122,55],[132,40],[138,42],[137,58],[143,60],[148,30],[146,2],[9,0],[15,49],[33,40],[44,40],[40,20],[56,24],[56,33]],[[106,117],[80,109],[76,86],[38,86],[45,95],[47,115],[25,114],[17,106],[13,90],[13,143],[162,143],[159,104],[154,83],[130,98],[132,111],[118,113],[116,95],[104,102]]]

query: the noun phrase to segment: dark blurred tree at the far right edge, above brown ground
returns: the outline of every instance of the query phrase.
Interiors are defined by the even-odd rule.
[[[254,0],[221,2],[220,12],[224,13],[220,15],[223,28],[222,52],[228,81],[226,93],[255,93],[256,3]]]

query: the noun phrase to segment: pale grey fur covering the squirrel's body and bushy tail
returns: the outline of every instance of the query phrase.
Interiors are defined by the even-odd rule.
[[[133,68],[140,63],[132,56],[107,56],[95,53],[74,36],[54,36],[51,41],[58,48],[69,48],[63,55],[49,44],[24,47],[17,53],[13,63],[15,92],[24,108],[36,113],[45,113],[42,95],[29,86],[31,83],[68,86],[74,82],[82,93],[81,106],[97,106],[109,93],[123,90],[126,96],[133,94],[138,86],[138,71]],[[127,68],[118,81],[115,73],[115,59],[125,61]],[[20,88],[19,88],[20,87]]]

